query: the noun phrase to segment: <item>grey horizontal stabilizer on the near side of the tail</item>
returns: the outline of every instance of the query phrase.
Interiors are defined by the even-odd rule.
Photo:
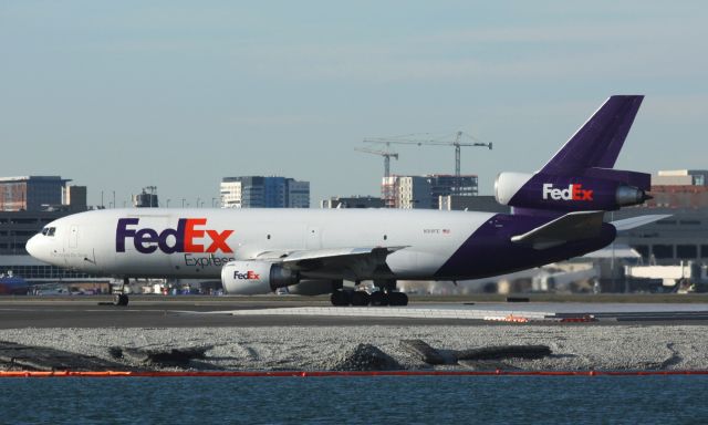
[[[514,243],[531,245],[533,249],[548,249],[571,240],[587,239],[600,234],[604,211],[569,212],[523,235],[511,237]]]

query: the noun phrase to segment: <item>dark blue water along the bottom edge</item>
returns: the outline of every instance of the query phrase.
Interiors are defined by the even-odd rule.
[[[708,376],[2,379],[0,423],[700,424]]]

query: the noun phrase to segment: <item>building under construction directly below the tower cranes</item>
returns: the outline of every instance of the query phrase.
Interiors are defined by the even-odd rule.
[[[382,196],[386,208],[438,209],[440,197],[477,196],[476,175],[452,176],[431,174],[425,176],[391,176],[382,180]]]

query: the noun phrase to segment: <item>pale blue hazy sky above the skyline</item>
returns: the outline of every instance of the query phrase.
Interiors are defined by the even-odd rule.
[[[249,4],[250,3],[250,4]],[[0,1],[0,175],[53,175],[171,205],[223,176],[378,195],[365,137],[451,134],[491,194],[611,94],[646,94],[618,167],[708,168],[702,1]],[[396,174],[452,173],[402,146]]]

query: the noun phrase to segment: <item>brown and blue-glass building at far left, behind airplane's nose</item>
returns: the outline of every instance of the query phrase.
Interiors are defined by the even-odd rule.
[[[40,211],[62,205],[66,183],[60,176],[22,176],[0,178],[0,210]]]

